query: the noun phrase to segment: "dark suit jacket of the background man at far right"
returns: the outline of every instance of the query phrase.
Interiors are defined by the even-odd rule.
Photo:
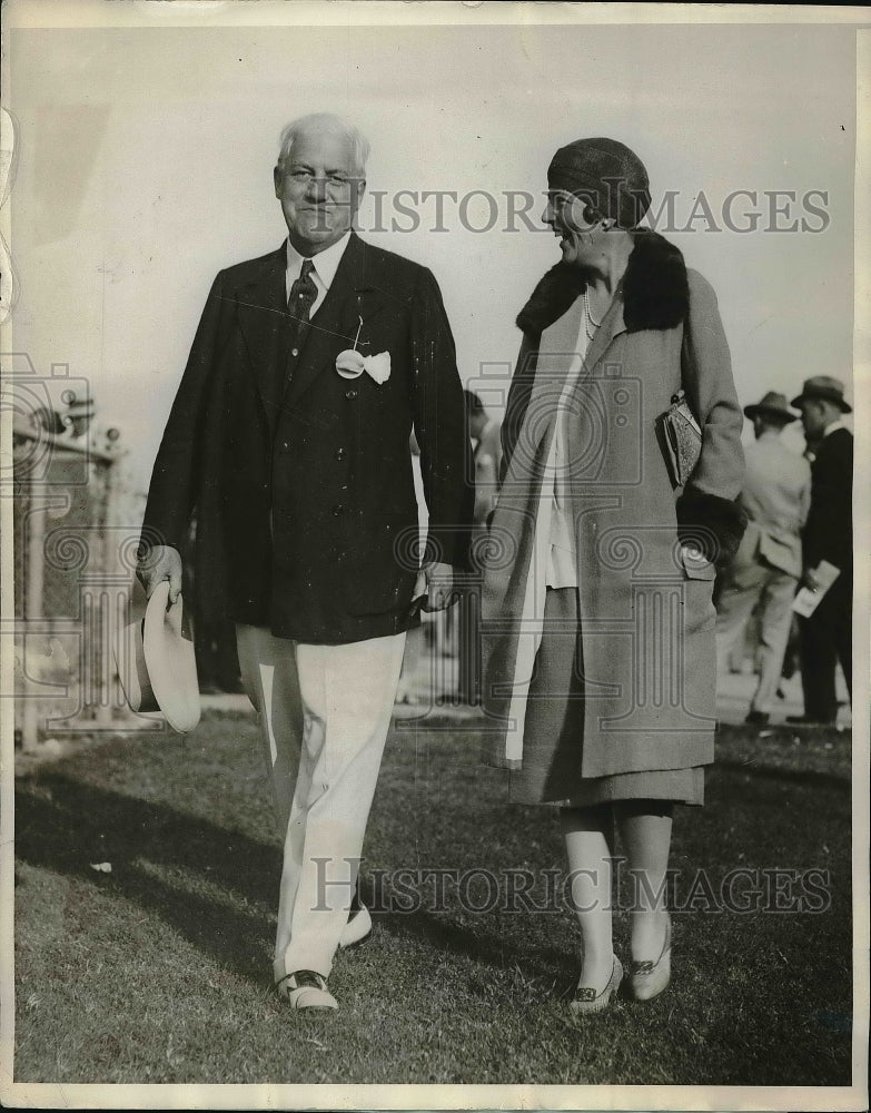
[[[824,436],[811,464],[811,509],[802,533],[804,563],[828,560],[841,569],[841,588],[853,570],[853,434]]]

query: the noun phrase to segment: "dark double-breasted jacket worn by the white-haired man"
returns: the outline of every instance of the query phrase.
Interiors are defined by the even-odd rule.
[[[211,287],[155,463],[143,539],[181,549],[197,516],[198,610],[343,643],[412,620],[420,445],[427,556],[466,565],[473,489],[454,342],[425,267],[352,233],[290,355],[285,245]],[[388,352],[390,377],[336,356]]]

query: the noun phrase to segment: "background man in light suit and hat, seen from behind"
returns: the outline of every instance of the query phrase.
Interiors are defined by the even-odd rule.
[[[760,670],[745,721],[763,727],[771,718],[802,571],[801,528],[810,508],[811,470],[781,440],[784,427],[795,421],[785,395],[769,391],[758,405],[745,406],[744,414],[753,422],[756,437],[745,452],[746,473],[739,495],[749,522],[723,573],[716,650],[722,672],[755,610]]]

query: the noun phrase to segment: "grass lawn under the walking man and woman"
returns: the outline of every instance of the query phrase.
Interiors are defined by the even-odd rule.
[[[540,903],[541,871],[563,866],[556,816],[508,805],[478,746],[474,727],[392,733],[363,867],[383,910],[337,957],[339,1013],[318,1018],[270,988],[280,855],[249,719],[19,777],[16,1081],[850,1083],[849,735],[723,728],[707,806],[675,820],[675,896],[695,910],[674,914],[672,986],[582,1021],[568,912],[512,912],[481,873],[464,892],[481,912],[451,879],[439,904],[434,884],[416,900],[413,875],[378,873],[504,886],[525,868]],[[736,867],[733,904],[762,885],[783,910],[725,907]],[[624,954],[625,937],[618,913]]]

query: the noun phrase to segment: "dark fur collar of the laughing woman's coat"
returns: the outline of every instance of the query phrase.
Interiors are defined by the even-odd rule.
[[[632,233],[635,246],[617,293],[623,296],[626,331],[674,328],[690,305],[683,255],[659,233]],[[541,335],[584,292],[582,275],[565,263],[551,267],[517,315],[517,327]]]

